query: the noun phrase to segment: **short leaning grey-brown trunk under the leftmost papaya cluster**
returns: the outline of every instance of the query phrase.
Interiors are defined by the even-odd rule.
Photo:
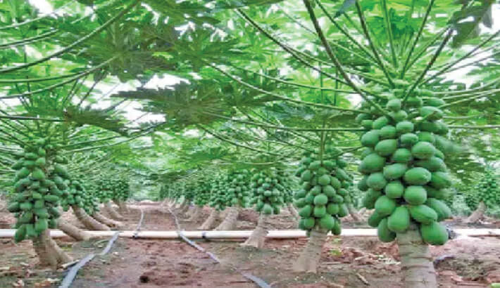
[[[41,266],[50,266],[56,270],[61,264],[72,261],[70,256],[51,239],[48,229],[33,239],[32,243]]]

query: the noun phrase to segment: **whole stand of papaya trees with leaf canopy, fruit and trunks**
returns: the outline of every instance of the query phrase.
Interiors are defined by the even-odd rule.
[[[316,273],[350,215],[398,245],[405,287],[437,287],[429,247],[449,240],[445,221],[500,211],[496,11],[473,0],[1,1],[0,201],[15,242],[57,268],[70,257],[50,229],[89,239],[63,211],[88,230],[120,229],[133,198],[194,206],[191,221],[210,207],[201,230],[233,230],[254,209],[243,246],[261,249],[287,210],[308,235],[294,270]]]

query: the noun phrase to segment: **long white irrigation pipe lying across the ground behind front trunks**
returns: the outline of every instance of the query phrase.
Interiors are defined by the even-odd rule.
[[[115,231],[92,231],[86,230],[92,237],[111,237]],[[454,232],[461,236],[468,237],[499,237],[500,229],[454,229]],[[14,237],[15,229],[0,229],[0,238]],[[244,239],[250,237],[252,230],[232,230],[232,231],[182,231],[182,234],[188,238],[193,239]],[[68,237],[61,230],[50,230],[50,235],[53,238]],[[177,231],[123,231],[119,237],[143,239],[179,239],[180,236]],[[342,229],[344,237],[367,237],[377,236],[377,229]],[[306,232],[303,230],[270,230],[267,238],[272,239],[294,239],[305,238]]]

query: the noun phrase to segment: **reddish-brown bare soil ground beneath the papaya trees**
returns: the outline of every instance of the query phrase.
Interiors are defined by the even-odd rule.
[[[133,230],[139,220],[139,206],[133,206],[123,221]],[[142,230],[175,230],[173,217],[154,204],[142,205]],[[208,210],[197,223],[181,221],[185,230],[194,230],[208,217]],[[72,214],[64,214],[76,225]],[[182,218],[181,218],[182,219]],[[243,211],[238,229],[251,230],[257,214]],[[0,228],[9,228],[13,218],[0,214]],[[283,212],[273,216],[275,227],[294,228],[292,217]],[[450,221],[453,227],[460,219]],[[344,227],[365,227],[344,221]],[[491,225],[489,225],[491,226]],[[477,225],[475,226],[477,227]],[[99,252],[106,244],[100,240],[74,242],[69,237],[56,240],[73,258]],[[119,238],[110,254],[96,257],[80,270],[73,287],[256,287],[235,270],[261,277],[273,287],[402,287],[397,246],[383,244],[376,237],[330,237],[323,247],[317,275],[293,273],[290,268],[306,239],[269,240],[261,250],[239,247],[240,241],[197,243],[223,262],[216,264],[206,254],[177,240],[132,240]],[[432,247],[441,287],[487,287],[500,282],[500,239],[460,238],[443,247]],[[14,244],[0,240],[0,287],[57,287],[63,271],[39,269],[30,242]],[[368,283],[368,284],[365,284]]]

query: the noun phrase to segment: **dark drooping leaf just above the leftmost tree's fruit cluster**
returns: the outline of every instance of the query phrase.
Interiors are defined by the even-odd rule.
[[[79,125],[98,126],[109,131],[115,131],[126,135],[125,124],[120,119],[111,116],[111,112],[91,107],[79,108],[75,106],[66,107],[64,111],[66,122],[73,122]]]

